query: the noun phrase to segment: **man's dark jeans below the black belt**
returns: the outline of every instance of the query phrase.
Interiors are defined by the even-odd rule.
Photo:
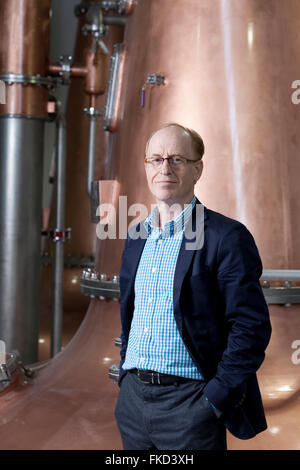
[[[202,390],[205,382],[143,384],[127,372],[115,416],[125,450],[226,450],[226,428]]]

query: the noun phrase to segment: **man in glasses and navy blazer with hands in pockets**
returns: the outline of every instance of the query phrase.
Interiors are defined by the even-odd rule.
[[[262,264],[248,229],[195,197],[203,154],[201,137],[176,123],[146,145],[157,206],[129,231],[120,271],[124,449],[225,450],[226,428],[249,439],[267,427],[256,378],[271,335]]]

